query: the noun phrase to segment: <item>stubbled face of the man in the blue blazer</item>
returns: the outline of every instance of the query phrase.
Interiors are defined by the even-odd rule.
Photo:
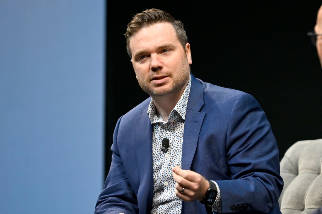
[[[143,91],[152,97],[180,98],[189,81],[189,43],[181,46],[170,23],[161,22],[137,31],[130,39],[132,65]]]

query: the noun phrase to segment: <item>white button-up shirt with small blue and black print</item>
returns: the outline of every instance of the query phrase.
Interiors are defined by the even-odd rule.
[[[172,168],[175,166],[181,167],[185,111],[187,108],[190,87],[191,77],[180,100],[170,112],[167,121],[164,121],[162,117],[156,113],[156,106],[153,99],[151,99],[147,111],[151,123],[153,124],[152,155],[154,185],[152,214],[181,213],[182,200],[175,195],[175,180],[172,177]],[[168,138],[170,141],[167,152],[161,151],[163,138]],[[217,183],[215,184],[218,188]],[[213,211],[218,210],[219,201],[217,199],[220,199],[219,193],[220,192],[218,191],[214,203],[214,205],[216,204],[216,207],[214,209],[213,205]]]

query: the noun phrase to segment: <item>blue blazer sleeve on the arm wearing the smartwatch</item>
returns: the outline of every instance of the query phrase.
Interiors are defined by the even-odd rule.
[[[227,162],[231,180],[216,181],[221,190],[223,213],[279,210],[283,180],[279,150],[269,121],[250,94],[241,94],[233,105],[227,130]],[[242,211],[242,210],[241,210]]]

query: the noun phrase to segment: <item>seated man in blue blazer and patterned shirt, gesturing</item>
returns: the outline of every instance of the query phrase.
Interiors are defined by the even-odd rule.
[[[280,213],[279,151],[259,103],[195,78],[167,12],[138,13],[125,36],[151,97],[117,122],[95,213]]]

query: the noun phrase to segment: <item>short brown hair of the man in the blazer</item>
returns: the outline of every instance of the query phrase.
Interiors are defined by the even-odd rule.
[[[128,27],[124,35],[126,37],[126,50],[128,51],[128,56],[130,58],[132,58],[131,50],[129,47],[131,36],[138,30],[159,22],[169,22],[170,24],[172,24],[177,34],[179,42],[185,49],[185,45],[188,42],[188,37],[187,33],[185,32],[185,27],[183,23],[179,20],[175,20],[175,18],[172,15],[170,15],[168,12],[164,10],[152,8],[147,9],[141,13],[137,13],[128,23]]]

